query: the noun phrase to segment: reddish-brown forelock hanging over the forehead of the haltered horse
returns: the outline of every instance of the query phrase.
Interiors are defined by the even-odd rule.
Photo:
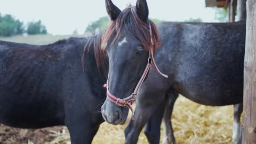
[[[117,40],[120,35],[121,27],[125,26],[128,29],[128,32],[131,32],[133,37],[135,37],[144,48],[149,51],[153,50],[160,46],[159,35],[157,31],[156,25],[149,20],[148,23],[144,23],[139,18],[138,14],[136,13],[136,7],[133,5],[128,5],[117,17],[115,21],[109,25],[106,29],[101,43],[101,49],[105,49],[105,45],[107,41],[115,35],[113,42],[111,45]],[[153,47],[151,43],[150,37],[150,28],[152,29],[152,40],[153,40]]]

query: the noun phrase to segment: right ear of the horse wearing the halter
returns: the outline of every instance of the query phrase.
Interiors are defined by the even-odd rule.
[[[149,18],[149,8],[147,6],[147,0],[137,0],[136,12],[139,15],[141,21],[146,22]]]

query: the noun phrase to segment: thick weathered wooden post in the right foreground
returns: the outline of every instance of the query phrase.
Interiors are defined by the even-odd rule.
[[[256,144],[256,0],[247,0],[243,144]]]

